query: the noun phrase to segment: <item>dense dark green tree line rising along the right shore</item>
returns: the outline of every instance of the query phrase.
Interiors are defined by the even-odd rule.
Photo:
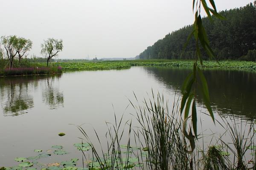
[[[244,7],[221,11],[220,14],[226,20],[213,16],[212,22],[206,17],[202,20],[217,59],[256,61],[256,1]],[[194,59],[195,39],[191,39],[183,51],[192,30],[193,26],[189,25],[167,34],[145,49],[140,59]],[[248,53],[250,56],[247,56]],[[206,54],[202,54],[207,59]]]

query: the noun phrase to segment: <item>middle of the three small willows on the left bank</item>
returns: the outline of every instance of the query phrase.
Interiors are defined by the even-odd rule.
[[[19,37],[15,45],[16,51],[19,57],[19,63],[21,58],[25,55],[27,51],[32,48],[32,41],[23,37]]]

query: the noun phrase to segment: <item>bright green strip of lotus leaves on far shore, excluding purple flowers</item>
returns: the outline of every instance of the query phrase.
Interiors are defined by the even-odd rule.
[[[107,70],[130,68],[131,66],[164,66],[164,67],[193,67],[194,61],[177,60],[127,60],[99,62],[54,62],[53,66],[61,66],[63,70]],[[256,62],[247,61],[204,61],[205,68],[231,68],[256,70]]]

